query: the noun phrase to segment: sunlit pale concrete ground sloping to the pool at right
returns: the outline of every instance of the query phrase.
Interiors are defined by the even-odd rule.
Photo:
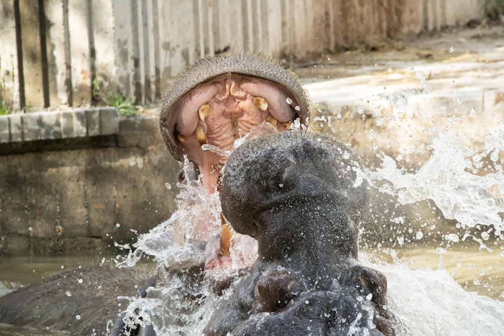
[[[432,129],[467,147],[483,146],[485,135],[497,137],[502,128],[502,25],[325,55],[295,72],[319,104],[312,127],[330,116],[333,131],[362,153],[378,149],[421,161],[417,149]]]

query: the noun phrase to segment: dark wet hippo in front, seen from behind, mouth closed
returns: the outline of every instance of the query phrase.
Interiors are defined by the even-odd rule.
[[[366,185],[343,144],[298,130],[255,138],[224,168],[221,203],[259,258],[205,334],[394,335],[387,280],[357,263]]]

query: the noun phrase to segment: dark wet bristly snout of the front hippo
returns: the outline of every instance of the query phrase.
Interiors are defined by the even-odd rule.
[[[365,185],[354,186],[358,165],[346,146],[316,134],[254,139],[229,158],[222,210],[237,232],[259,241],[263,258],[329,244],[330,261],[355,259],[367,200]]]

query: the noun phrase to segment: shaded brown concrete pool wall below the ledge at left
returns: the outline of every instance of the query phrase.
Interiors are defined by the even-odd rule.
[[[105,114],[98,130],[110,130]],[[117,125],[116,134],[0,145],[0,255],[109,249],[170,217],[180,168],[157,114]]]

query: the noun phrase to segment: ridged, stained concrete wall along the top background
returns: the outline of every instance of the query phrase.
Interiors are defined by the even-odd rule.
[[[172,78],[205,55],[256,50],[303,58],[483,16],[482,0],[43,3],[0,3],[0,99],[17,109],[87,106],[98,98],[93,80],[101,93],[157,104]]]

